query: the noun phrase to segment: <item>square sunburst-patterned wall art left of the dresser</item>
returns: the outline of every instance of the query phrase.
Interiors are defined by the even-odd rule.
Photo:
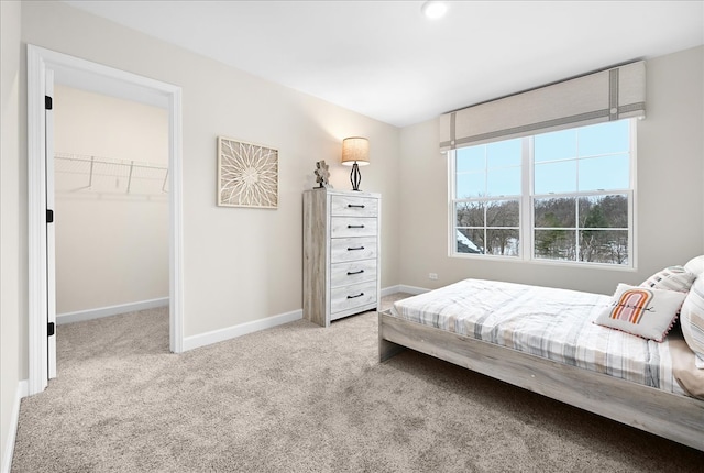
[[[278,151],[219,136],[218,206],[278,208]]]

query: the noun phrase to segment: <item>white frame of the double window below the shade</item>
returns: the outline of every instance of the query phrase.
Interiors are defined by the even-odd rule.
[[[457,186],[457,153],[455,150],[450,150],[447,152],[448,158],[448,256],[449,257],[458,257],[458,258],[470,258],[470,260],[490,260],[490,261],[502,261],[502,262],[519,262],[519,263],[537,263],[537,264],[548,264],[548,265],[560,265],[560,266],[576,266],[576,267],[601,267],[614,271],[636,271],[638,267],[637,262],[637,119],[627,119],[629,121],[629,134],[630,134],[630,156],[629,156],[629,165],[630,165],[630,176],[629,176],[629,188],[628,189],[608,189],[608,190],[596,190],[596,191],[583,191],[583,193],[564,193],[564,194],[550,194],[550,195],[535,195],[532,183],[534,183],[534,170],[535,170],[535,162],[534,162],[534,138],[526,136],[521,139],[521,195],[519,197],[519,248],[518,248],[518,256],[505,256],[505,255],[493,255],[493,254],[480,254],[480,253],[460,253],[457,251],[457,216],[455,216],[455,204],[463,201],[465,199],[455,199],[455,186]],[[575,127],[575,128],[582,128]],[[528,189],[527,191],[525,189]],[[535,221],[534,221],[534,199],[542,198],[542,197],[591,197],[598,195],[617,195],[624,194],[627,195],[629,207],[628,207],[628,264],[614,264],[614,263],[594,263],[594,262],[582,262],[582,261],[566,261],[566,260],[549,260],[549,258],[537,258],[534,256],[534,234],[535,234]],[[514,196],[496,196],[496,198],[492,200],[502,200],[502,199],[512,199]],[[579,231],[575,230],[575,231]],[[578,238],[578,249],[579,249],[579,238]]]

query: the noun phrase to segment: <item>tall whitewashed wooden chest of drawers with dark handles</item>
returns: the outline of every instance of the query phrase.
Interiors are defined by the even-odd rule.
[[[304,318],[322,327],[378,307],[381,196],[304,193]]]

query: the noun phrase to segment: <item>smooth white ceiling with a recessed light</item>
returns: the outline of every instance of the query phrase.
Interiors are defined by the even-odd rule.
[[[704,1],[66,1],[397,127],[704,44]]]

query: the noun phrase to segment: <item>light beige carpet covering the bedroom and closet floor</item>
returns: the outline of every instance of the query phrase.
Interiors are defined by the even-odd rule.
[[[392,298],[384,300],[388,305]],[[376,312],[176,355],[164,309],[58,328],[12,472],[701,472],[704,453],[404,352]]]

